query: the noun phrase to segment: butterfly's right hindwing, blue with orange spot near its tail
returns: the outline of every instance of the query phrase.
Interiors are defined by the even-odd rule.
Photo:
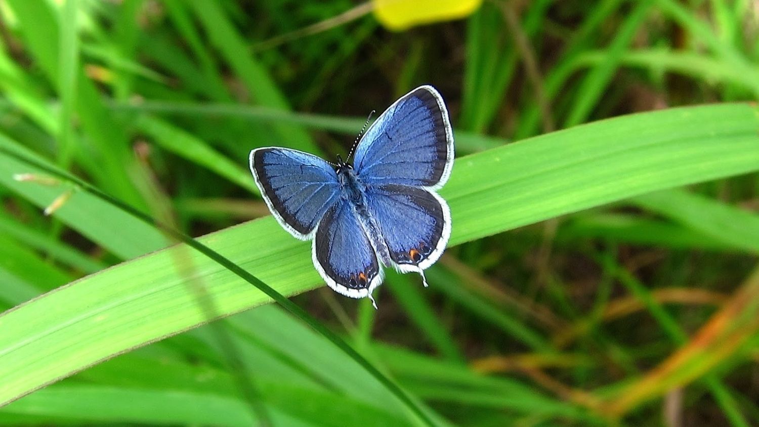
[[[451,212],[440,196],[384,185],[367,190],[367,204],[399,270],[418,272],[439,259],[451,236]]]

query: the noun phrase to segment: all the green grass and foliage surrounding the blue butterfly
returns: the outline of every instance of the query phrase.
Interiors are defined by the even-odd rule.
[[[0,424],[759,425],[759,5],[412,3],[0,2]],[[451,247],[375,311],[247,154],[426,83]]]

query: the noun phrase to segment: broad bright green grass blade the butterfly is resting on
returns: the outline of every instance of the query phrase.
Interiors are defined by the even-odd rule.
[[[10,173],[24,168],[5,155],[0,165]],[[757,168],[757,111],[742,104],[707,105],[609,119],[468,155],[457,159],[441,194],[451,206],[455,245]],[[291,238],[273,218],[200,241],[280,294],[320,284],[309,243]],[[203,281],[220,314],[269,302],[263,292],[191,250],[183,250],[177,265],[177,250],[125,262],[0,316],[0,402],[206,322],[180,270]]]

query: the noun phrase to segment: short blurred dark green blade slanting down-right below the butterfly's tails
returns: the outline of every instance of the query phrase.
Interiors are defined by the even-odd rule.
[[[430,303],[427,303],[427,299],[422,296],[419,284],[412,283],[408,276],[390,273],[386,277],[386,283],[395,295],[395,300],[408,313],[411,322],[424,332],[427,341],[430,341],[430,344],[433,344],[445,359],[454,363],[463,363],[464,354],[430,307]]]

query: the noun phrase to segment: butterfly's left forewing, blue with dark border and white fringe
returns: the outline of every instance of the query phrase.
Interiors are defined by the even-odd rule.
[[[269,147],[250,152],[250,171],[282,228],[305,240],[338,199],[340,184],[332,166],[316,155]]]

